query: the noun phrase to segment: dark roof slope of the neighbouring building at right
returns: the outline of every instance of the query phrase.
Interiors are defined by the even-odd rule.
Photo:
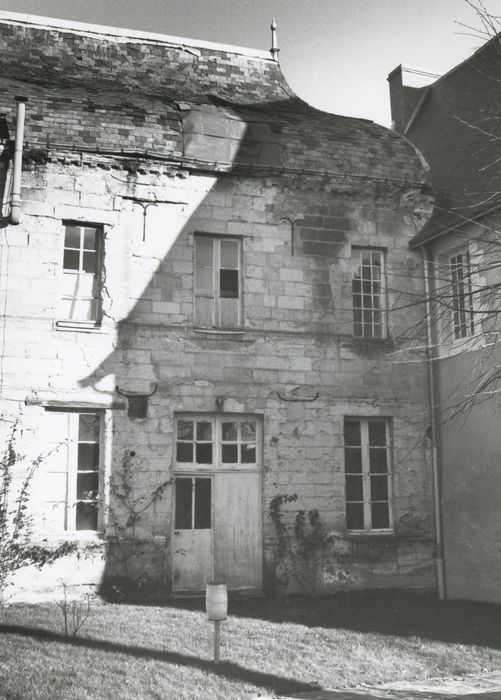
[[[434,215],[422,245],[501,206],[500,36],[425,88],[407,137],[429,166]]]

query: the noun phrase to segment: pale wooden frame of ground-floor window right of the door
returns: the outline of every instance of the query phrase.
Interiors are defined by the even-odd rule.
[[[384,446],[377,447],[376,449],[381,449],[384,447],[386,452],[386,472],[373,472],[370,471],[370,449],[369,444],[369,424],[371,422],[384,422],[385,424],[385,438],[386,444]],[[349,503],[362,503],[363,504],[363,528],[350,528],[348,527],[348,515],[347,517],[347,530],[348,532],[360,532],[360,533],[385,533],[393,532],[393,488],[392,488],[392,422],[389,418],[370,416],[370,417],[359,417],[359,416],[347,416],[344,419],[343,428],[347,423],[358,423],[360,426],[360,446],[349,445],[346,443],[346,433],[343,437],[343,448],[344,448],[344,473],[345,473],[345,489],[347,489],[348,477],[361,477],[362,478],[362,500],[348,500],[348,494],[345,493],[345,502],[348,506]],[[347,471],[347,449],[361,450],[361,471]],[[374,447],[374,446],[372,446]],[[387,499],[372,499],[371,497],[371,476],[375,478],[381,478],[386,476],[386,486],[387,486]],[[373,527],[373,517],[372,517],[372,505],[375,503],[387,503],[388,504],[388,526],[387,527]]]

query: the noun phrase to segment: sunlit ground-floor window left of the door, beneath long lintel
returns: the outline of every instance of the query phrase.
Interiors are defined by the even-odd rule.
[[[43,529],[100,530],[102,412],[47,409],[44,423],[50,449],[35,475]]]

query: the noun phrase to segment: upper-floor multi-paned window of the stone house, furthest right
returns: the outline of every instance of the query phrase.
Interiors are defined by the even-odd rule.
[[[384,252],[352,249],[353,333],[359,338],[386,337]]]

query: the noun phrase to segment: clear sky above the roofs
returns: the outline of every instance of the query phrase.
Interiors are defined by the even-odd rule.
[[[471,0],[476,2],[477,0]],[[276,17],[291,88],[328,112],[390,125],[388,73],[443,74],[484,39],[468,0],[0,0],[0,10],[268,50]],[[501,0],[484,6],[501,15]]]

